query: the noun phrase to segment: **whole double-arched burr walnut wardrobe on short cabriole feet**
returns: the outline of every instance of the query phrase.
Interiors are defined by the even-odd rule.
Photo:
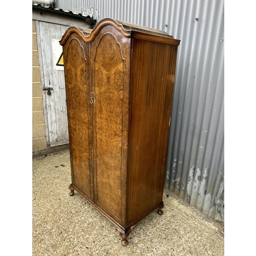
[[[163,186],[179,40],[114,19],[70,27],[63,46],[76,190],[117,226],[121,244],[157,209]]]

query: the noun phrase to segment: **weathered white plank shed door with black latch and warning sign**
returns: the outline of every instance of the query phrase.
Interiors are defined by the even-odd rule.
[[[49,146],[69,143],[63,67],[56,66],[62,47],[59,40],[68,26],[36,21],[46,139]]]

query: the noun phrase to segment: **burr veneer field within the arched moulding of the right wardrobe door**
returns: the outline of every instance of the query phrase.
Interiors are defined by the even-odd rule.
[[[97,203],[121,220],[124,59],[113,34],[100,38],[94,58]]]

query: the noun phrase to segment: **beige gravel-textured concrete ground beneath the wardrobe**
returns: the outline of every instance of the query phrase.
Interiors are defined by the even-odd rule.
[[[170,191],[121,245],[115,226],[76,192],[69,150],[33,159],[33,255],[224,255],[224,225]],[[168,196],[167,196],[168,195]]]

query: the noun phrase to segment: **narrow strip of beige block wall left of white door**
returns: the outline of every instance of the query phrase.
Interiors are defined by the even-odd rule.
[[[35,20],[32,20],[32,151],[46,150],[46,129],[42,104],[41,78]]]

